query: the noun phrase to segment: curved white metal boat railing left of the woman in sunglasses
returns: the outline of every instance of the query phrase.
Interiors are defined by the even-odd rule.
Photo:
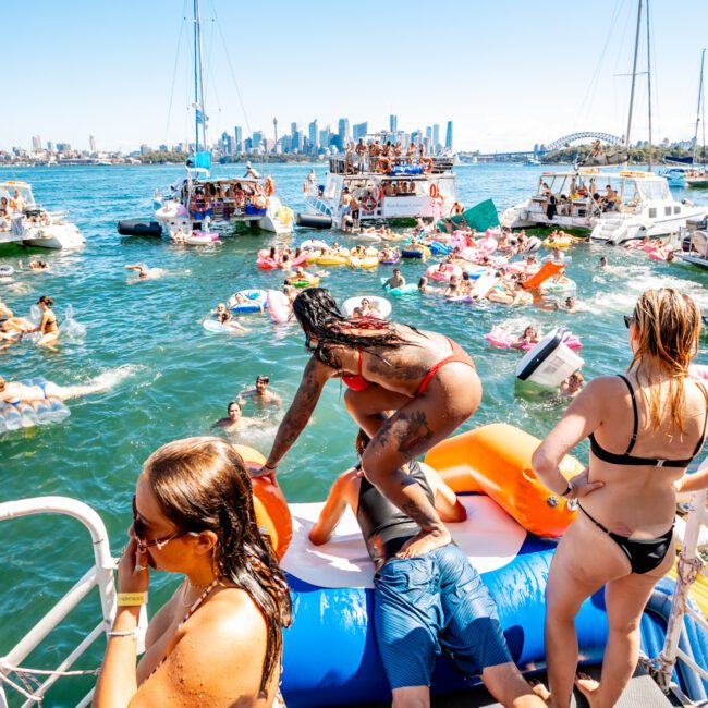
[[[71,587],[66,594],[27,632],[17,644],[0,657],[0,708],[8,701],[3,687],[16,691],[26,698],[23,708],[39,705],[49,688],[68,675],[95,674],[96,671],[71,671],[71,667],[86,650],[112,626],[115,617],[115,586],[108,533],[100,516],[87,504],[68,497],[33,497],[0,503],[0,522],[34,514],[63,514],[80,521],[90,534],[94,547],[94,565]],[[102,611],[101,621],[76,645],[56,669],[27,669],[22,662],[94,589],[98,588]],[[34,687],[29,680],[38,683]],[[40,681],[41,680],[41,681]],[[88,706],[93,689],[78,703]]]

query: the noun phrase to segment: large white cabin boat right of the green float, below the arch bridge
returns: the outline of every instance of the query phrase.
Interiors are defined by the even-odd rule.
[[[613,204],[603,196],[607,185],[617,193]],[[708,206],[674,199],[666,178],[652,172],[588,168],[544,172],[536,194],[506,209],[501,224],[508,229],[587,230],[594,243],[621,244],[645,235],[671,234],[685,227],[686,219],[707,213]]]

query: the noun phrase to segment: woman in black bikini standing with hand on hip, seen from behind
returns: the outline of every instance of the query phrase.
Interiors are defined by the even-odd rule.
[[[609,635],[600,683],[578,675],[593,708],[613,706],[637,663],[639,620],[674,561],[675,488],[706,438],[708,392],[688,378],[700,310],[672,289],[649,290],[625,316],[633,358],[594,379],[534,454],[553,491],[579,500],[548,577],[546,651],[553,706],[570,705],[577,667],[574,618],[605,586]],[[559,464],[590,439],[589,466],[570,484]],[[593,552],[587,552],[593,549]]]

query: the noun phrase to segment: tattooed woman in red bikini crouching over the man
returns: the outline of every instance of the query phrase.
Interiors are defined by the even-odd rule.
[[[401,468],[477,410],[481,382],[469,356],[436,332],[378,319],[349,319],[321,288],[304,290],[293,313],[312,357],[259,474],[274,477],[325,383],[341,378],[347,387],[347,411],[371,438],[362,459],[366,478],[420,527],[399,556],[419,556],[449,544],[450,534],[425,492]]]

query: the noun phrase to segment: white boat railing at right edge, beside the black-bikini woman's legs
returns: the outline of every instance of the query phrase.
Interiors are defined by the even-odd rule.
[[[708,634],[708,622],[703,614],[694,609],[688,600],[688,590],[699,575],[708,577],[705,563],[698,552],[698,541],[703,528],[708,527],[708,511],[706,510],[707,491],[694,493],[686,520],[686,530],[683,537],[681,553],[676,567],[676,586],[671,598],[671,611],[667,622],[667,634],[661,654],[650,661],[650,669],[664,693],[672,684],[672,675],[678,662],[682,662],[691,671],[708,681],[706,667],[699,666],[693,657],[680,647],[685,640],[684,620],[688,615],[698,628]],[[685,645],[684,645],[685,646]]]

